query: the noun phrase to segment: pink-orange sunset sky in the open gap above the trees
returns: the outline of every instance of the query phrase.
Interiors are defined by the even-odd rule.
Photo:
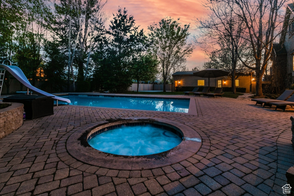
[[[116,13],[120,7],[126,8],[129,15],[133,15],[136,25],[145,30],[147,34],[149,25],[157,23],[160,19],[168,16],[174,19],[180,18],[180,23],[190,23],[190,34],[196,33],[195,18],[203,17],[205,10],[201,1],[195,0],[108,0],[105,11],[113,18],[112,13]],[[187,58],[187,66],[192,70],[195,66],[200,66],[205,61],[205,56],[199,47],[196,47],[190,58]]]

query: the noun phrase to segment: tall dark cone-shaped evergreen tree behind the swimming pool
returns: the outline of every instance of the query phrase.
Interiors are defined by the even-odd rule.
[[[115,16],[113,14],[113,16]],[[103,88],[111,91],[125,92],[132,84],[132,65],[134,57],[144,50],[145,36],[143,30],[135,26],[133,16],[127,15],[127,10],[118,9],[111,21],[107,34],[110,36],[100,55],[99,73]]]

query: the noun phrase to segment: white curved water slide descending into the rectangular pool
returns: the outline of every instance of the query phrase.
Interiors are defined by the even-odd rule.
[[[18,81],[20,81],[23,85],[28,87],[28,89],[31,89],[37,95],[51,96],[53,99],[70,103],[69,99],[52,95],[48,92],[42,91],[42,90],[37,89],[36,87],[32,86],[31,83],[28,81],[27,77],[25,77],[24,72],[22,72],[22,70],[19,67],[11,66],[11,65],[7,66],[4,64],[0,64],[0,68],[6,69],[11,75],[13,75],[13,77],[15,77]]]

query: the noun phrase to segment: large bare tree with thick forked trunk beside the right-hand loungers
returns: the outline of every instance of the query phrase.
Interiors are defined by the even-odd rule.
[[[238,5],[234,12],[246,25],[243,38],[251,44],[255,65],[247,65],[238,52],[237,55],[244,66],[255,70],[256,95],[262,96],[262,77],[272,55],[273,42],[283,32],[281,7],[288,0],[233,1]]]

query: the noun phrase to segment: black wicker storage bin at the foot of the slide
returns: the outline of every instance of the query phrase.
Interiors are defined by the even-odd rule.
[[[54,114],[54,100],[51,96],[13,95],[3,98],[3,102],[24,104],[26,119],[36,119]]]

